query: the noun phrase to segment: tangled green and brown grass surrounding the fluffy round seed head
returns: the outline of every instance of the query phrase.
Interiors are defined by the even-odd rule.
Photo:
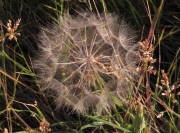
[[[74,9],[90,6],[118,14],[137,31],[139,42],[148,38],[156,24],[151,51],[157,59],[153,64],[156,75],[140,75],[136,97],[102,116],[55,110],[54,97],[39,91],[31,64],[40,26],[60,19],[64,11],[74,15]],[[10,35],[21,36],[9,40],[7,22],[14,24],[18,18],[18,29]],[[0,132],[180,132],[179,0],[0,0],[0,20]]]

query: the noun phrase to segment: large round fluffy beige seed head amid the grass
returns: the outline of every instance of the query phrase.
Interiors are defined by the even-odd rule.
[[[130,94],[138,45],[134,31],[118,16],[104,13],[65,14],[39,34],[38,59],[33,61],[43,90],[56,92],[57,107],[79,113],[101,113],[114,98]]]

